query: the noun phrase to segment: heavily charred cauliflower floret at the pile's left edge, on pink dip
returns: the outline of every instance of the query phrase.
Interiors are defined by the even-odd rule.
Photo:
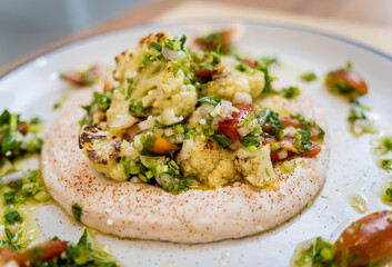
[[[79,144],[94,168],[105,176],[118,180],[127,180],[120,164],[121,140],[108,131],[98,130],[93,126],[84,126],[79,135]]]

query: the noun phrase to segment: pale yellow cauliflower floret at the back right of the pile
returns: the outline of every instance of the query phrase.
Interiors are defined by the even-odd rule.
[[[252,98],[260,96],[264,87],[264,75],[257,71],[254,75],[231,73],[209,81],[201,90],[202,96],[222,98],[232,101],[235,92],[249,92]]]

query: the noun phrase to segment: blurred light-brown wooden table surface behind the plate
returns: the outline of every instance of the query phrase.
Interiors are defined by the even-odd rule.
[[[203,10],[208,10],[210,17],[214,18],[224,14],[229,18],[248,18],[248,12],[253,13],[252,18],[263,20],[278,18],[278,21],[283,22],[292,21],[311,27],[315,24],[315,28],[353,37],[379,49],[385,47],[383,50],[392,53],[392,0],[157,0],[42,48],[1,69],[0,77],[38,56],[94,34],[151,21],[200,19],[205,17]],[[222,10],[225,10],[225,13],[222,13]],[[342,23],[345,24],[343,29],[340,27]]]

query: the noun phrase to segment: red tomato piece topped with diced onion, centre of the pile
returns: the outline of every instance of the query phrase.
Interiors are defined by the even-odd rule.
[[[251,112],[254,111],[254,108],[250,103],[238,103],[234,105],[234,108],[239,109],[240,112],[232,112],[232,119],[223,120],[219,123],[218,130],[230,138],[232,142],[240,139],[241,135],[238,132],[238,123],[244,120]]]

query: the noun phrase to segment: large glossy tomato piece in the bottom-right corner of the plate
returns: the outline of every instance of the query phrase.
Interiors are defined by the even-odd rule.
[[[392,214],[379,211],[351,224],[334,244],[340,266],[363,266],[392,253]]]

